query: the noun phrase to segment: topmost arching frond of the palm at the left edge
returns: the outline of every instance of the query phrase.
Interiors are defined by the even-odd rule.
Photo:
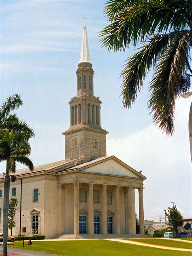
[[[0,107],[0,120],[4,117],[7,117],[10,111],[18,109],[22,105],[23,102],[19,94],[13,94],[7,97],[6,100],[3,102],[2,106]]]

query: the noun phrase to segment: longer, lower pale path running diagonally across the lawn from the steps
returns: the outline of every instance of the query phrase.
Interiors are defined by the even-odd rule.
[[[166,250],[173,250],[173,251],[183,251],[183,252],[192,252],[192,249],[184,249],[184,248],[177,248],[177,247],[171,247],[171,246],[164,246],[164,245],[154,245],[151,243],[141,243],[141,242],[135,242],[131,240],[123,240],[123,239],[105,239],[109,241],[115,241],[115,242],[121,242],[121,243],[131,243],[135,245],[143,245],[143,246],[149,246],[159,249],[166,249]]]

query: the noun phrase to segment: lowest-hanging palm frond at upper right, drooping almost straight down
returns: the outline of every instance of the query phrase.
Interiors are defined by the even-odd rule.
[[[182,93],[182,73],[186,70],[189,49],[188,32],[175,38],[160,58],[150,84],[151,98],[148,107],[154,113],[153,122],[159,124],[166,135],[174,132],[175,100]]]

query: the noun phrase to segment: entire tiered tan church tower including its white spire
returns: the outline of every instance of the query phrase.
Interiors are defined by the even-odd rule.
[[[100,125],[99,97],[94,96],[94,70],[90,61],[84,23],[77,74],[77,96],[70,102],[70,127],[65,135],[65,160],[83,157],[84,162],[106,156],[106,130]]]

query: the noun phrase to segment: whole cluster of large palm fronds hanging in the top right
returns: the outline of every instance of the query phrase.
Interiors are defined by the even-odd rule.
[[[190,88],[192,46],[191,0],[109,0],[104,9],[111,22],[101,32],[102,47],[125,51],[143,43],[122,71],[122,96],[130,108],[151,68],[148,109],[166,135],[174,132],[175,100]]]

